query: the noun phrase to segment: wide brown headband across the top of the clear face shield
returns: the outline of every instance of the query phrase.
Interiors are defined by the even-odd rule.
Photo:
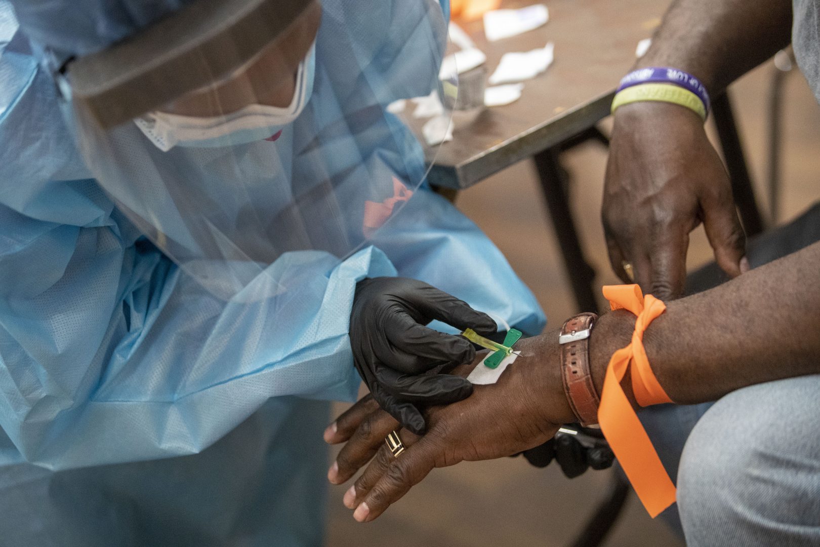
[[[312,0],[198,0],[111,48],[71,60],[71,101],[108,129],[247,66]]]

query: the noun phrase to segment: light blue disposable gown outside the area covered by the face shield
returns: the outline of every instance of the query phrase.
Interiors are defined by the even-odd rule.
[[[360,3],[324,2],[327,16]],[[400,21],[387,27],[401,43]],[[320,545],[326,401],[359,385],[358,280],[412,277],[530,334],[544,326],[498,249],[425,186],[344,262],[285,259],[321,299],[287,322],[253,306],[214,321],[224,304],[93,180],[0,0],[2,545]],[[246,344],[251,332],[263,335]]]

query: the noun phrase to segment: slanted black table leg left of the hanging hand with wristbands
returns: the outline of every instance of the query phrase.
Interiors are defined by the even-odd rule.
[[[558,148],[549,148],[535,154],[533,160],[538,170],[549,217],[567,266],[567,276],[572,282],[572,292],[575,294],[578,310],[595,312],[598,310],[594,294],[595,271],[586,262],[581,250],[581,240],[578,238],[565,190],[567,176],[558,164],[558,156]]]

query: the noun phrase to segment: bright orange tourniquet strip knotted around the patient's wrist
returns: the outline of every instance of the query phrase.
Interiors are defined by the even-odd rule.
[[[672,403],[649,367],[644,350],[644,331],[666,310],[666,305],[651,294],[644,298],[638,285],[608,285],[604,287],[604,297],[613,310],[625,308],[637,319],[631,343],[618,349],[609,360],[598,421],[641,503],[649,515],[657,517],[663,509],[675,503],[675,485],[629,399],[626,399],[621,381],[631,363],[632,390],[640,406]]]

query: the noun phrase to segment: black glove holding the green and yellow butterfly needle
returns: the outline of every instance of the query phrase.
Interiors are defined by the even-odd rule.
[[[356,368],[380,407],[416,435],[426,429],[417,405],[454,403],[472,393],[466,378],[445,373],[471,362],[476,349],[462,336],[427,328],[434,319],[480,335],[497,329],[487,314],[421,281],[375,277],[356,285],[350,312]],[[425,375],[436,367],[442,374]]]

